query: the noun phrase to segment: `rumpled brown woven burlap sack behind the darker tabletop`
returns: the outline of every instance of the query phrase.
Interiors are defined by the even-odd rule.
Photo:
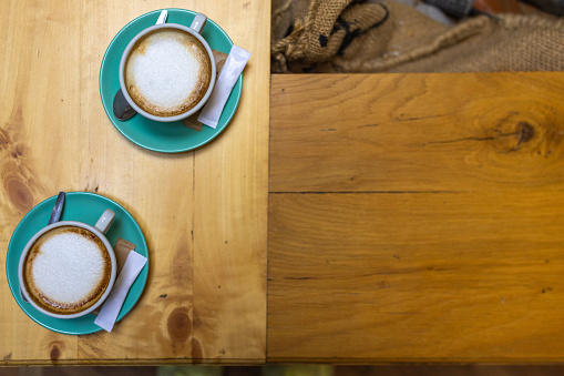
[[[437,22],[401,2],[273,3],[273,72],[564,70],[564,21],[540,16]]]

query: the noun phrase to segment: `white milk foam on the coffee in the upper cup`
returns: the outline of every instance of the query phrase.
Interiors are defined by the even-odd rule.
[[[140,95],[164,111],[181,108],[198,88],[202,49],[178,31],[148,35],[127,62],[127,82]],[[193,37],[192,37],[193,38]]]

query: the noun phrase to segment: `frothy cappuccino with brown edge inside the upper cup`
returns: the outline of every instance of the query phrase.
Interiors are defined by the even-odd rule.
[[[135,42],[123,77],[127,93],[142,110],[175,116],[202,101],[212,80],[212,62],[196,37],[162,28]]]

